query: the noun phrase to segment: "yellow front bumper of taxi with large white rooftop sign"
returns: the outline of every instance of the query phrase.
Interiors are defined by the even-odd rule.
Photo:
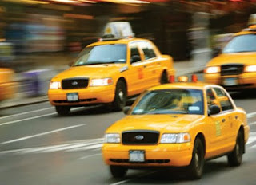
[[[114,100],[114,85],[87,87],[85,89],[49,89],[48,98],[50,104],[79,106],[86,104],[104,104]],[[67,93],[78,93],[79,100],[74,102],[67,101]]]

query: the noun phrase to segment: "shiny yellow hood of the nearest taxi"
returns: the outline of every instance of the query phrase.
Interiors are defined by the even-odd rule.
[[[183,129],[202,120],[204,115],[130,115],[118,120],[106,132],[154,130],[183,132]]]

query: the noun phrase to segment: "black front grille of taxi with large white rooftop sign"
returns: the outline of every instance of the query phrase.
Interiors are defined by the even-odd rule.
[[[62,80],[62,89],[81,89],[86,88],[89,78],[68,78]]]

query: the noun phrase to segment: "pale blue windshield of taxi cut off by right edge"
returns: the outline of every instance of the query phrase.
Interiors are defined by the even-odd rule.
[[[234,37],[223,49],[222,53],[256,52],[256,35],[246,34]]]

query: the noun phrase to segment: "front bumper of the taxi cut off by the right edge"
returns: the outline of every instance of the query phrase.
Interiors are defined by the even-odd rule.
[[[204,79],[207,83],[222,85],[228,90],[254,89],[256,88],[256,73],[242,73],[239,75],[221,76],[220,73],[205,73]],[[226,85],[226,79],[235,79],[234,85]]]

